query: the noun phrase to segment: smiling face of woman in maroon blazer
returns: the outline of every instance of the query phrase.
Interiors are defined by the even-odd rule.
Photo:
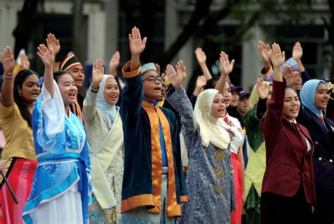
[[[289,119],[294,120],[298,116],[300,108],[300,101],[294,89],[286,88],[283,105],[283,115]]]

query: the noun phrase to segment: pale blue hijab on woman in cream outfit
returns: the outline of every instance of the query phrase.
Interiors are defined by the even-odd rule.
[[[112,78],[113,80],[115,80],[113,75],[104,75],[100,83],[99,92],[97,92],[97,107],[104,114],[104,117],[106,118],[106,122],[108,123],[108,127],[110,129],[113,125],[113,120],[115,120],[117,116],[119,107],[108,104],[106,100],[104,99],[104,87],[106,86],[106,80],[108,80],[109,78]]]

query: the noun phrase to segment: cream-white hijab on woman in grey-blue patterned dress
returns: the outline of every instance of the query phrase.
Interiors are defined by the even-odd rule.
[[[216,89],[206,89],[199,94],[194,106],[194,127],[199,126],[204,147],[209,147],[211,143],[219,149],[226,149],[230,144],[228,132],[219,125],[219,118],[211,115],[211,106],[218,92]]]

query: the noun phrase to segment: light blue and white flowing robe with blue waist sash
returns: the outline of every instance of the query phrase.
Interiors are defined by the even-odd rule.
[[[47,89],[42,92],[35,103],[32,113],[32,131],[37,155],[37,169],[30,196],[23,210],[25,223],[33,223],[34,213],[49,202],[66,197],[70,192],[77,192],[80,203],[68,202],[58,211],[44,216],[61,217],[66,213],[77,212],[82,204],[83,223],[87,223],[88,204],[92,200],[92,182],[90,178],[90,160],[85,127],[80,119],[70,112],[66,116],[63,99],[54,82],[54,97]],[[79,192],[79,193],[78,193]],[[81,199],[81,201],[80,201]],[[57,221],[56,221],[57,222]]]

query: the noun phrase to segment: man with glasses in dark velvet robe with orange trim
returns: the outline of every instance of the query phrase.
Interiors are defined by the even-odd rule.
[[[129,41],[120,106],[125,154],[120,222],[174,223],[180,203],[187,201],[178,122],[158,106],[162,86],[154,63],[140,67],[147,38],[133,27]]]

